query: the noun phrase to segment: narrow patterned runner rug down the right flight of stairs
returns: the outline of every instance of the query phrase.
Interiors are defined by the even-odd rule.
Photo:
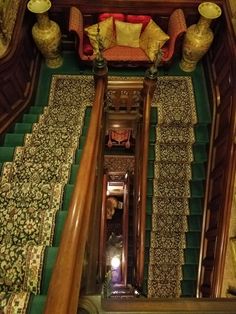
[[[158,110],[158,125],[148,297],[176,298],[181,294],[193,126],[197,123],[191,78],[158,78],[153,106]]]

